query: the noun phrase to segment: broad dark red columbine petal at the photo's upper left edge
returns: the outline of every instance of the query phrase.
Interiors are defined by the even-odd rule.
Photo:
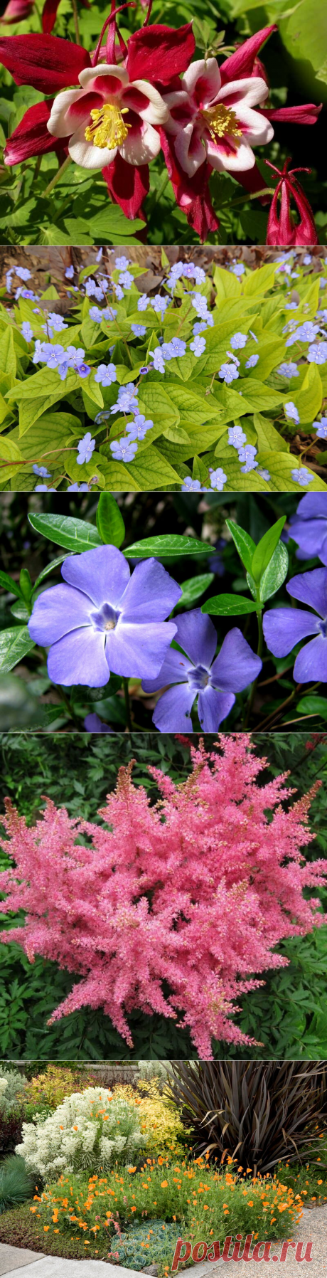
[[[89,66],[86,49],[59,36],[4,36],[0,40],[0,61],[11,73],[15,84],[31,84],[41,93],[57,93],[77,84],[79,72]]]

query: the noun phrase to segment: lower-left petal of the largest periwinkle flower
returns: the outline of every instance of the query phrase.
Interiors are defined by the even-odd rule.
[[[84,684],[88,688],[105,688],[110,670],[105,656],[105,630],[73,630],[50,648],[47,658],[49,677],[54,684],[72,688]]]

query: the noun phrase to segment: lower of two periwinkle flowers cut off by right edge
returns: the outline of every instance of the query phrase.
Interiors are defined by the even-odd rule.
[[[275,657],[286,657],[301,639],[314,635],[295,658],[294,679],[299,684],[308,684],[312,679],[327,682],[327,569],[299,573],[287,583],[286,590],[293,599],[308,603],[318,616],[304,608],[270,608],[263,617],[267,647]]]

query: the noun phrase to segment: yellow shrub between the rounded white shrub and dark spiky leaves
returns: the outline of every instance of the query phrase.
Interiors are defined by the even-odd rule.
[[[156,1079],[148,1082],[142,1079],[137,1090],[130,1086],[116,1086],[114,1095],[123,1097],[137,1105],[141,1131],[147,1135],[147,1154],[178,1154],[183,1151],[185,1127],[176,1108],[170,1108],[161,1095]]]

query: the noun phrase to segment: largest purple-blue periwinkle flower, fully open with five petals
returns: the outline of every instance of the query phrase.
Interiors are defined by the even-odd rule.
[[[115,546],[69,555],[64,583],[34,602],[28,630],[45,648],[49,676],[65,688],[103,688],[110,671],[126,679],[156,679],[176,622],[166,621],[181,589],[156,558],[130,575]]]

